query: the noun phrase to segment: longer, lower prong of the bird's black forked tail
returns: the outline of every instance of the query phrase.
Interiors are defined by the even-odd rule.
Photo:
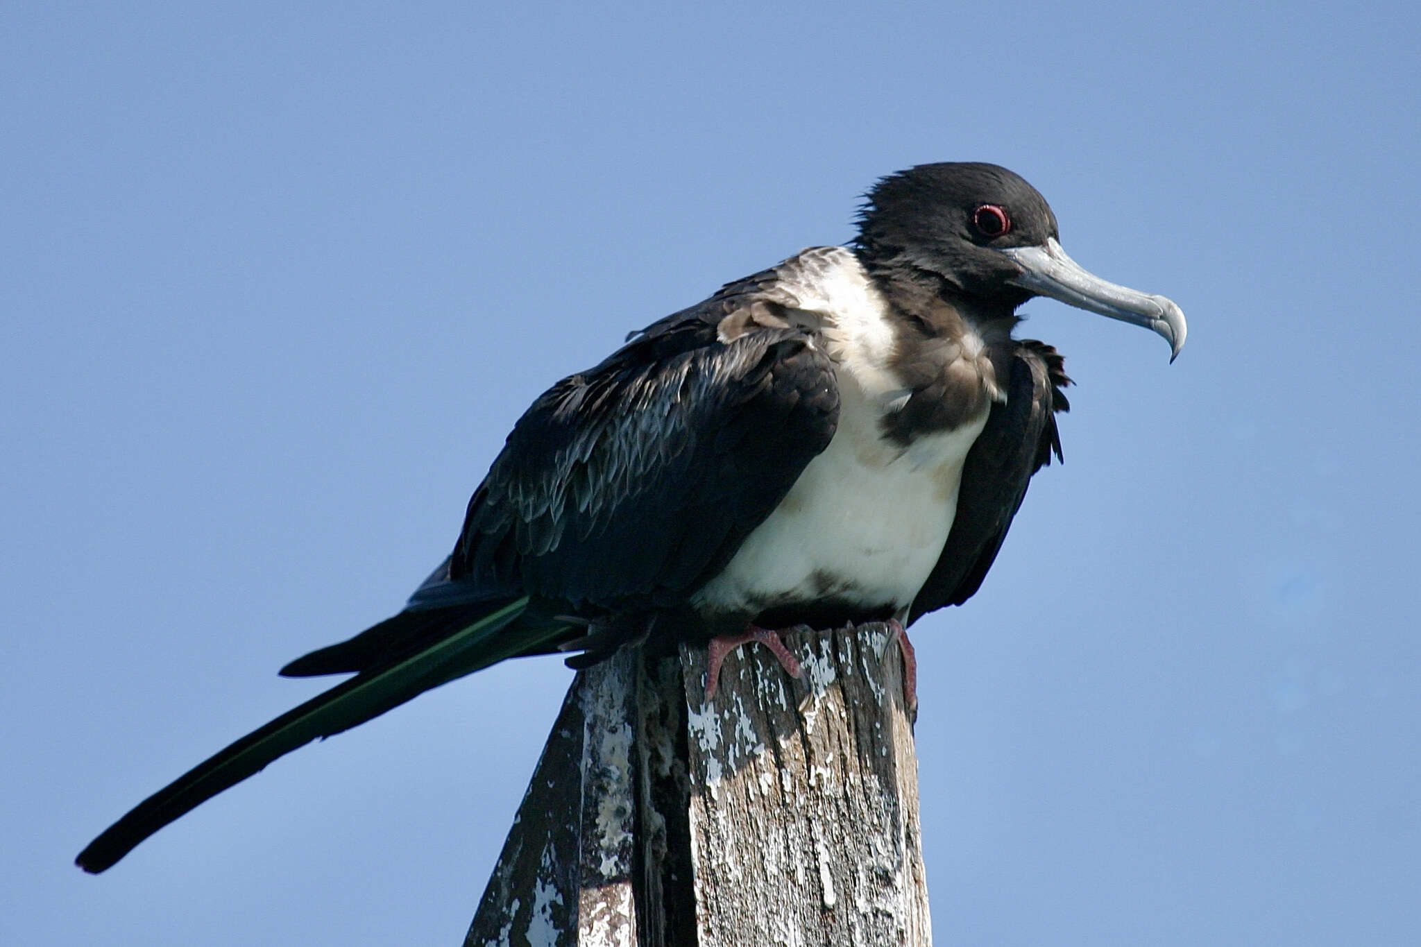
[[[524,596],[469,623],[455,623],[426,646],[369,666],[355,677],[281,714],[139,802],[80,852],[75,863],[85,872],[102,872],[158,829],[246,779],[277,757],[317,737],[330,737],[362,724],[431,687],[506,657],[546,650],[547,642],[567,635],[567,625],[519,622],[527,608],[529,599]]]

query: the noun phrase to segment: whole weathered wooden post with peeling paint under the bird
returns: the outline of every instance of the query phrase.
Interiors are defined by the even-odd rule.
[[[929,944],[918,764],[882,625],[622,652],[573,681],[466,947]]]

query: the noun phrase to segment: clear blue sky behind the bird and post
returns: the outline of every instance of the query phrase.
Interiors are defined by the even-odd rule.
[[[938,943],[1421,940],[1412,4],[128,6],[0,14],[0,941],[458,944],[557,660],[71,859],[540,390],[962,159],[1191,332],[1026,307],[1066,464],[914,636]]]

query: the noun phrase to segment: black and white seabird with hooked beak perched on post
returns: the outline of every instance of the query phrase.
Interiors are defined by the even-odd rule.
[[[1030,478],[1061,460],[1070,379],[1054,348],[1015,338],[1019,307],[1050,297],[1148,328],[1171,362],[1185,318],[1074,263],[1046,199],[998,165],[881,177],[857,224],[539,396],[405,608],[280,672],[352,676],[141,802],[77,863],[104,872],[277,757],[509,657],[588,667],[705,645],[712,697],[746,640],[794,673],[776,629],[901,629],[972,596]]]

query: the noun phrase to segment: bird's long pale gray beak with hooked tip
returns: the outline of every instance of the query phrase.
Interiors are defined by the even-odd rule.
[[[1013,285],[1154,329],[1169,342],[1171,362],[1184,348],[1188,325],[1178,305],[1162,295],[1128,290],[1087,273],[1066,256],[1056,237],[1047,237],[1044,247],[1007,247],[1000,253],[1022,267],[1022,274],[1010,280]]]

